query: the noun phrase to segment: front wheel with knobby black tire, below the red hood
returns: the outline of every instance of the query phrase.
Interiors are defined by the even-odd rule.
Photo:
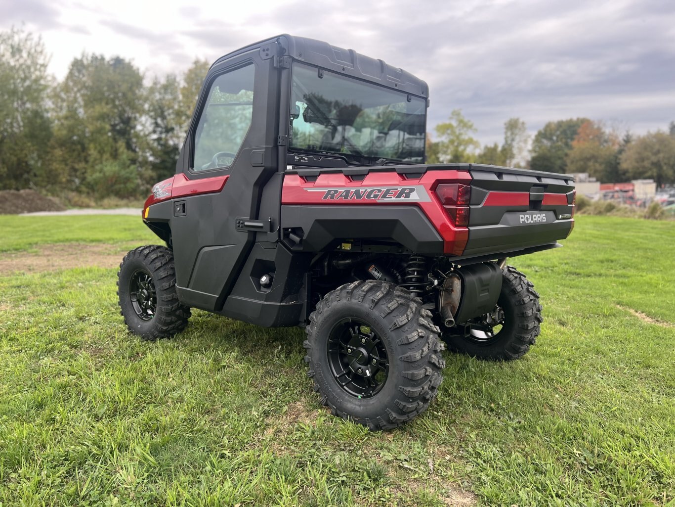
[[[188,325],[190,308],[175,291],[173,252],[159,245],[130,251],[117,272],[120,314],[129,331],[144,340],[167,338]]]

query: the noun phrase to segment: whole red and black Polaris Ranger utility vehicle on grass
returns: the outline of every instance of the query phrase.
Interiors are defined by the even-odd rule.
[[[507,257],[559,247],[574,183],[424,164],[427,84],[382,60],[281,35],[209,70],[175,176],[142,218],[166,246],[127,254],[121,314],[153,340],[190,308],[306,329],[333,414],[396,427],[437,395],[443,341],[495,360],[539,335],[539,295]]]

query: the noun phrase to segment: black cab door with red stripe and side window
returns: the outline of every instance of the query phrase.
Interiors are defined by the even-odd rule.
[[[260,48],[207,74],[176,168],[191,193],[173,199],[171,218],[184,304],[222,308],[256,233],[278,228],[278,214],[258,216],[278,166],[278,99],[279,72]]]

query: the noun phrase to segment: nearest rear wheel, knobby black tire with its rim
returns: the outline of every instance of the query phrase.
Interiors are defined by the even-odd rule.
[[[445,366],[431,312],[406,289],[358,281],[328,293],[309,317],[305,361],[333,415],[371,430],[427,409]]]

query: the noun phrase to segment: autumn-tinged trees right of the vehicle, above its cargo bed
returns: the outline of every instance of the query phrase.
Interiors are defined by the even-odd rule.
[[[477,129],[454,110],[448,122],[427,136],[427,162],[476,162],[520,166],[547,172],[587,172],[606,183],[653,178],[658,185],[675,183],[675,122],[668,132],[642,136],[605,128],[589,118],[547,122],[529,147],[525,122],[504,123],[504,142],[481,147],[472,137]],[[433,139],[436,139],[434,141]]]

